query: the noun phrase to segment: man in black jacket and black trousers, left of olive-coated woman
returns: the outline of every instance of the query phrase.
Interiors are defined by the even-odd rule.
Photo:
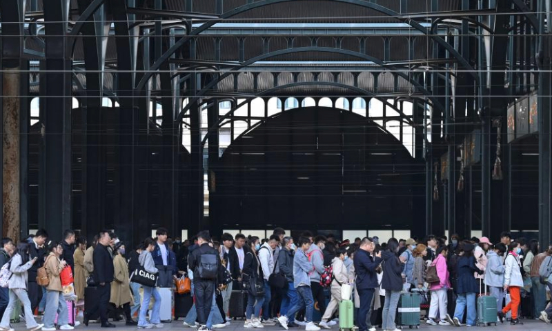
[[[92,255],[94,261],[94,280],[98,284],[97,304],[84,314],[84,324],[88,326],[88,319],[99,310],[102,328],[115,328],[115,325],[108,322],[108,305],[111,295],[111,282],[113,281],[113,260],[108,251],[111,242],[111,235],[108,231],[99,232],[98,244]]]

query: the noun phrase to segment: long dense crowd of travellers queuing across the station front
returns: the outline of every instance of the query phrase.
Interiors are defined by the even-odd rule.
[[[376,326],[397,330],[404,292],[426,299],[429,325],[475,326],[478,294],[495,298],[498,323],[552,319],[552,305],[546,307],[552,247],[541,252],[538,241],[513,240],[508,232],[494,244],[486,237],[461,240],[457,235],[450,241],[429,235],[423,240],[380,243],[366,237],[350,242],[311,232],[295,241],[282,228],[268,239],[224,233],[217,241],[201,231],[173,242],[164,228],[156,235],[129,251],[108,231],[99,232],[90,246],[72,230],[60,242],[48,240],[44,230],[17,245],[3,238],[0,330],[13,330],[10,320],[18,305],[28,330],[53,331],[56,325],[72,330],[79,322],[70,316],[70,300],[83,310],[86,326],[99,320],[101,328],[115,328],[109,319],[124,316],[126,325],[163,328],[159,288],[172,288],[178,277],[190,279],[194,297],[184,325],[201,331],[224,328],[231,317],[244,318],[244,328],[331,329],[339,320],[344,285],[353,288],[349,299],[359,331],[375,331]],[[62,275],[68,268],[74,278],[71,299]],[[139,281],[137,270],[146,282]],[[230,307],[233,295],[244,295],[242,312]],[[40,323],[36,314],[42,315]]]

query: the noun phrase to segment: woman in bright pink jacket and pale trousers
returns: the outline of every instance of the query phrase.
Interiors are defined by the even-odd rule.
[[[431,291],[431,305],[429,307],[428,320],[426,323],[429,325],[437,325],[437,311],[439,311],[441,320],[439,325],[451,325],[450,322],[446,321],[446,305],[448,300],[446,298],[446,291],[451,288],[451,283],[449,281],[449,268],[446,265],[446,256],[449,253],[449,248],[445,245],[439,246],[435,252],[437,257],[433,260],[431,265],[435,266],[437,269],[437,277],[439,277],[439,282],[430,284],[429,290]]]

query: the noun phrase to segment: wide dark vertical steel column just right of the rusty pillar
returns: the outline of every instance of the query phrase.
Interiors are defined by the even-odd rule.
[[[68,57],[66,33],[70,1],[48,1],[44,6],[46,30],[45,72],[40,84],[44,94],[40,102],[45,134],[45,159],[39,172],[45,184],[40,226],[52,239],[60,239],[71,227],[71,92],[72,59]]]

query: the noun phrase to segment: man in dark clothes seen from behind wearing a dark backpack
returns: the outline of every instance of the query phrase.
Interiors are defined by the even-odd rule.
[[[207,318],[211,310],[221,264],[219,253],[209,245],[210,240],[209,232],[199,232],[197,234],[199,247],[188,258],[188,268],[194,274],[195,309],[197,310],[197,321],[201,325],[199,331],[210,330],[207,328]]]

